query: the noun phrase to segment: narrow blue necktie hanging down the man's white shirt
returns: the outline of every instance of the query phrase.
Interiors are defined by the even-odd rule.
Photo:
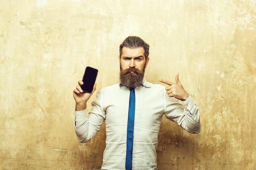
[[[125,162],[126,170],[132,169],[134,113],[135,113],[135,91],[134,89],[130,89],[130,101],[129,101],[128,124],[127,124],[127,142],[126,142],[126,162]]]

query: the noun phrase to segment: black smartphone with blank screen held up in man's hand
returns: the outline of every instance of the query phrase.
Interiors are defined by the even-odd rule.
[[[92,93],[97,74],[98,70],[96,68],[85,68],[85,72],[83,74],[83,85],[81,85],[83,92]]]

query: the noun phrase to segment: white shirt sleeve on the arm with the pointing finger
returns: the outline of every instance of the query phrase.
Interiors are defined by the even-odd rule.
[[[165,116],[171,121],[181,126],[189,133],[200,133],[200,113],[199,108],[193,102],[193,99],[189,95],[186,101],[182,101],[182,104],[176,98],[166,98],[166,111]]]

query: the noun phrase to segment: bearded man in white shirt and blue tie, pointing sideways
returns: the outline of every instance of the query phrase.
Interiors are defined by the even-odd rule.
[[[101,89],[87,116],[87,101],[96,90],[85,93],[78,81],[75,131],[80,143],[88,142],[106,121],[106,148],[102,170],[157,170],[157,137],[162,116],[189,133],[199,133],[200,113],[180,83],[149,83],[144,72],[149,62],[149,45],[140,37],[127,37],[119,47],[120,83]],[[182,104],[179,102],[182,101]]]

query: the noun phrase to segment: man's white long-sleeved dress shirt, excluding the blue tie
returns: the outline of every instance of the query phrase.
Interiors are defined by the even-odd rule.
[[[75,130],[81,143],[92,139],[106,121],[102,170],[125,170],[129,97],[128,88],[115,84],[98,92],[88,117],[86,109],[76,111]],[[200,132],[199,110],[190,95],[182,105],[168,97],[163,85],[144,79],[143,85],[135,89],[135,102],[134,170],[157,170],[157,137],[163,115],[189,133]]]

